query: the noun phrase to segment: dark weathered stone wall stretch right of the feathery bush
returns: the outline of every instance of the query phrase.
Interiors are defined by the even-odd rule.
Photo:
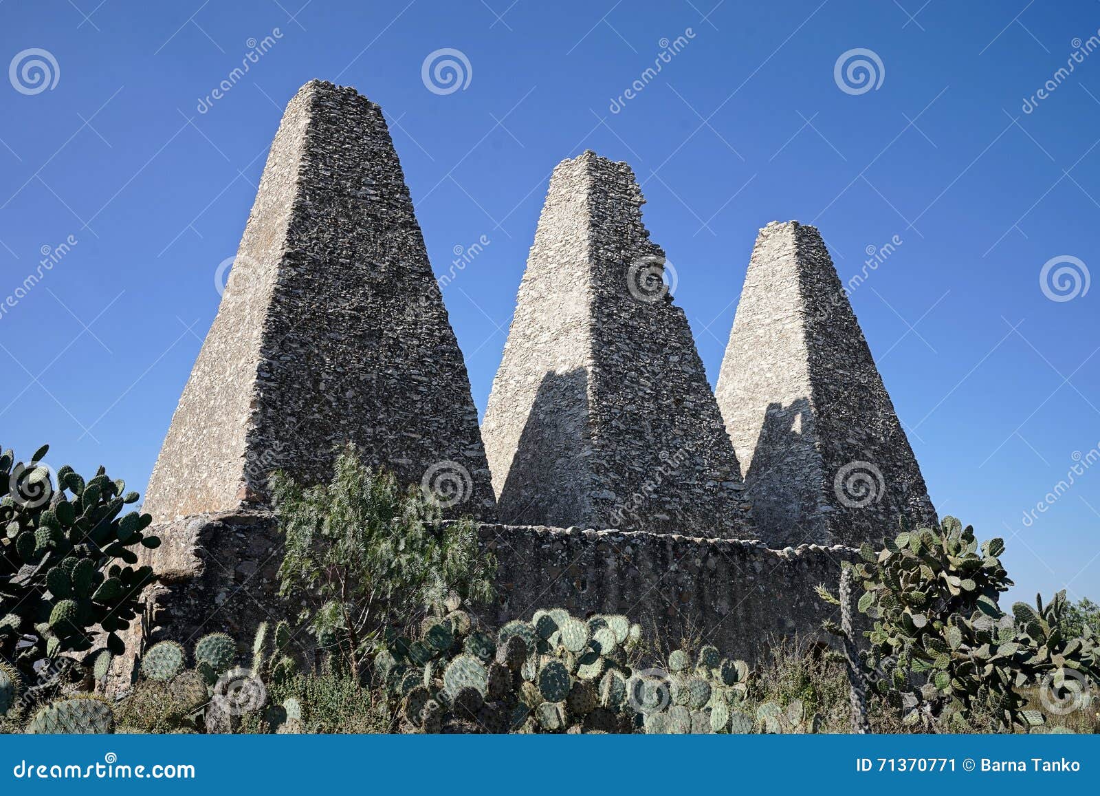
[[[835,585],[847,547],[782,550],[762,542],[624,531],[482,525],[499,560],[491,622],[561,606],[573,613],[624,613],[666,648],[702,637],[724,655],[755,662],[777,637],[824,641],[834,607],[814,593]],[[835,587],[833,587],[835,591]]]

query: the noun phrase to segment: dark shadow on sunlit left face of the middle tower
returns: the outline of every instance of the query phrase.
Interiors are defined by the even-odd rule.
[[[586,371],[547,373],[501,489],[501,521],[558,527],[585,524],[590,490],[583,459],[591,449]]]

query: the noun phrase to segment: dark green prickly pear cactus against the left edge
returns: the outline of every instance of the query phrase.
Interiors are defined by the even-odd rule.
[[[152,569],[136,566],[135,547],[160,545],[145,531],[148,514],[123,513],[138,501],[103,468],[85,480],[70,467],[56,472],[43,461],[47,446],[29,464],[11,450],[0,454],[0,658],[28,678],[44,659],[64,653],[123,651],[118,632],[142,609],[141,592]]]

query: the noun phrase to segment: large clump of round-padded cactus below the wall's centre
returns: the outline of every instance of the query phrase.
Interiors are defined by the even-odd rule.
[[[628,650],[641,629],[625,617],[536,611],[490,634],[455,604],[420,639],[391,634],[374,675],[408,732],[629,732]]]

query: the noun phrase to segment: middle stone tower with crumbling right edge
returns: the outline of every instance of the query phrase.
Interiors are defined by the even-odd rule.
[[[740,468],[625,163],[550,179],[482,435],[501,520],[745,536]]]

